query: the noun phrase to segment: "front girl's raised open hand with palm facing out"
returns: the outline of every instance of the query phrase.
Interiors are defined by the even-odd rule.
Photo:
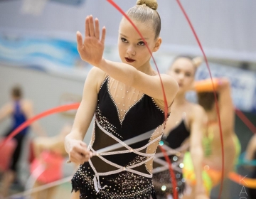
[[[104,51],[104,43],[106,36],[106,28],[102,28],[102,38],[100,39],[99,20],[92,16],[85,18],[85,40],[82,41],[82,34],[77,32],[78,53],[82,60],[94,66],[99,66],[102,61]]]

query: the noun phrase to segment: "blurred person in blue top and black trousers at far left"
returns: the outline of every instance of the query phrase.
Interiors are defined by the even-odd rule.
[[[16,129],[19,125],[26,121],[26,119],[30,119],[33,117],[33,104],[28,99],[23,99],[23,93],[21,87],[16,85],[11,89],[11,102],[4,104],[0,109],[0,121],[5,119],[6,117],[11,117],[11,127],[4,134],[4,137],[7,137],[11,134],[14,129]],[[38,122],[34,122],[31,124],[33,130],[41,136],[46,136],[43,129],[39,126]],[[11,183],[14,182],[17,173],[17,163],[22,153],[23,141],[28,134],[28,127],[19,132],[16,136],[14,136],[14,140],[16,142],[16,148],[14,149],[14,154],[11,156],[9,168],[4,172],[4,176],[1,181],[1,190],[0,195],[6,197],[9,195],[9,188]],[[4,148],[0,151],[1,154],[4,153]],[[5,154],[6,155],[6,154]],[[4,157],[4,155],[1,155]]]

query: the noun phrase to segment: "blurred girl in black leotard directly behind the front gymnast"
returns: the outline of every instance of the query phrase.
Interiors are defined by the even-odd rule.
[[[195,166],[196,185],[195,198],[208,198],[203,189],[202,161],[203,147],[201,144],[203,129],[206,124],[206,112],[203,107],[186,100],[186,92],[191,90],[196,69],[201,65],[201,58],[189,58],[178,56],[169,69],[169,75],[178,82],[179,90],[171,106],[171,115],[166,122],[166,130],[161,140],[162,147],[166,150],[174,168],[179,197],[182,197],[185,190],[185,179],[183,178],[183,156],[188,148]],[[171,198],[173,195],[173,181],[169,175],[169,167],[165,162],[161,150],[157,150],[154,158],[153,184],[157,198]]]

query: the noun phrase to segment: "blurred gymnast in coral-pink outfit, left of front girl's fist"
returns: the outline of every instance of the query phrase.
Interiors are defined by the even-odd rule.
[[[31,175],[36,178],[33,188],[36,188],[63,178],[63,161],[68,156],[64,147],[65,136],[70,133],[72,126],[66,124],[60,134],[53,137],[37,137],[33,140]],[[53,199],[57,187],[48,188],[32,194],[33,199]]]

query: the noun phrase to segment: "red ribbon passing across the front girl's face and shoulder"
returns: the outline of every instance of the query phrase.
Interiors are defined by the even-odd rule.
[[[153,54],[151,53],[151,50],[149,49],[149,45],[147,45],[144,37],[142,36],[142,33],[139,31],[139,29],[137,28],[137,26],[135,26],[135,24],[132,22],[131,18],[129,18],[129,16],[127,16],[127,14],[125,14],[125,12],[117,5],[114,3],[114,1],[112,0],[107,0],[110,4],[112,4],[112,6],[114,6],[115,9],[117,9],[117,11],[119,11],[125,18],[127,18],[127,20],[129,21],[129,23],[132,24],[132,26],[134,27],[134,29],[137,31],[137,33],[139,34],[139,36],[142,38],[142,41],[144,41],[146,48],[149,50],[149,53],[151,55],[152,60],[154,61],[154,65],[156,66],[156,70],[158,72],[159,78],[160,78],[160,82],[161,82],[161,89],[164,95],[164,117],[165,117],[165,121],[167,119],[167,114],[168,114],[168,105],[167,105],[167,99],[166,99],[166,94],[165,94],[165,90],[164,90],[164,84],[161,80],[161,75],[159,72],[159,68],[156,65],[156,60],[153,57]],[[159,146],[159,148],[161,149],[161,151],[163,151],[163,153],[166,154],[166,151]],[[166,161],[169,163],[169,172],[170,172],[170,176],[171,176],[171,181],[173,183],[173,193],[174,193],[174,199],[178,199],[178,193],[176,191],[176,179],[175,179],[175,175],[174,175],[174,171],[171,168],[171,161],[169,156],[164,156],[164,158],[166,159]]]

